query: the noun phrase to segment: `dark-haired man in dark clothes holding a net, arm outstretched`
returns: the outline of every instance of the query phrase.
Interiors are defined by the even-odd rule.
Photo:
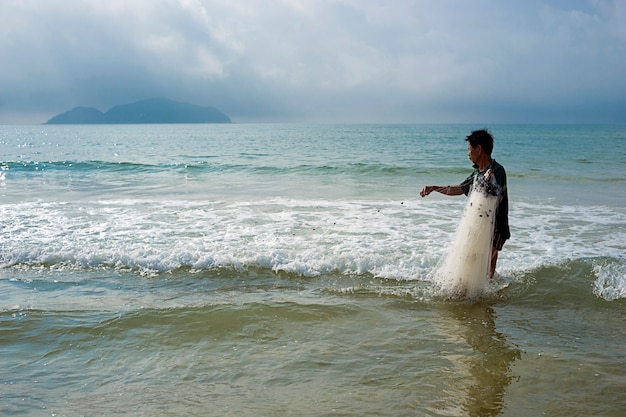
[[[502,250],[502,246],[507,239],[511,237],[509,231],[509,197],[506,187],[506,171],[504,167],[491,158],[493,150],[493,136],[486,129],[475,130],[466,139],[467,156],[474,164],[474,172],[465,179],[460,185],[427,185],[420,195],[426,197],[433,191],[445,195],[468,195],[474,178],[477,175],[493,176],[496,183],[500,187],[500,201],[496,208],[496,223],[493,232],[493,246],[491,248],[491,268],[489,277],[493,278],[496,273],[496,263],[498,262],[498,252]]]

